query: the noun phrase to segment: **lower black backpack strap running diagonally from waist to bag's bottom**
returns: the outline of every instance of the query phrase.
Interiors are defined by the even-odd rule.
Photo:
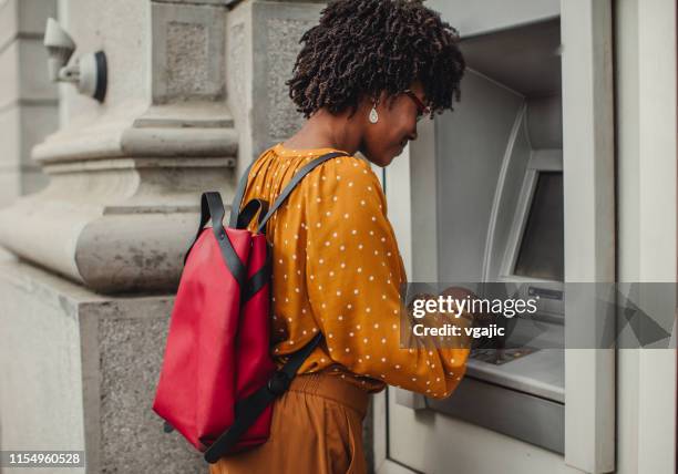
[[[205,461],[214,464],[233,450],[233,446],[257,421],[266,406],[287,392],[297,371],[321,339],[322,333],[319,332],[304,348],[294,352],[285,365],[273,374],[266,385],[237,403],[233,425],[205,451]]]

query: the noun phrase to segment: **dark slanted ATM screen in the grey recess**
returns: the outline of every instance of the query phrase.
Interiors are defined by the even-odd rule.
[[[514,274],[564,280],[563,173],[540,172]]]

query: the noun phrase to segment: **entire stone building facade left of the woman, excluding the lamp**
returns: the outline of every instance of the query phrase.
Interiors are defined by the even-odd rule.
[[[0,2],[1,450],[84,450],[88,473],[205,472],[151,410],[182,257],[201,193],[229,202],[300,125],[285,80],[321,8]],[[49,82],[48,17],[74,58],[105,52],[103,103]]]

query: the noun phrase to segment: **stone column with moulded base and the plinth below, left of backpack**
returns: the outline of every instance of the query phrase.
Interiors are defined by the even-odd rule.
[[[201,193],[228,202],[235,187],[227,8],[62,0],[58,13],[74,58],[105,52],[107,94],[59,86],[60,128],[32,151],[50,183],[0,209],[19,257],[0,268],[0,449],[85,450],[92,473],[204,473],[151,406]]]

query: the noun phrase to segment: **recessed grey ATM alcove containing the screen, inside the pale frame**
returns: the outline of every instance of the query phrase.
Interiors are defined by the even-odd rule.
[[[559,39],[557,18],[464,39],[462,101],[434,124],[438,281],[534,282],[549,349],[477,351],[450,399],[420,406],[563,453]]]

